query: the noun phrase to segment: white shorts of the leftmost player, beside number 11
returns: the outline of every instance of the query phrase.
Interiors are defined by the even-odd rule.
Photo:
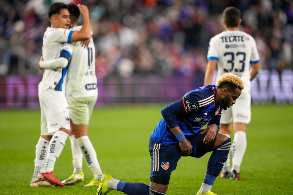
[[[41,135],[53,135],[60,128],[70,129],[69,109],[65,94],[53,89],[39,90]]]

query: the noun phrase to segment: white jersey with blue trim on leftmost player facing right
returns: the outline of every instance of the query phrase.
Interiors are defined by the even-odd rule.
[[[66,50],[69,56],[72,54],[67,42],[71,42],[73,31],[63,28],[48,27],[43,37],[42,54],[44,60],[52,60],[60,57],[60,51]],[[55,89],[64,92],[67,67],[56,70],[45,69],[39,90]]]

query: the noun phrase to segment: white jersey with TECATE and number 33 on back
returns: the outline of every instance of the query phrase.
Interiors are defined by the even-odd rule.
[[[259,62],[253,37],[238,30],[217,34],[210,41],[208,60],[218,61],[218,78],[224,73],[234,73],[243,80],[242,92],[250,92],[249,66]]]

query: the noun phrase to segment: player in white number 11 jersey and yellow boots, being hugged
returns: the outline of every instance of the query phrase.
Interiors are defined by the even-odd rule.
[[[71,30],[79,31],[77,25],[80,15],[74,3],[67,5],[71,18]],[[93,173],[93,178],[85,186],[99,186],[102,171],[96,151],[88,137],[88,125],[98,96],[97,78],[95,71],[95,45],[90,38],[86,43],[75,42],[69,46],[73,55],[69,61],[67,74],[66,98],[69,106],[71,131],[69,138],[74,166],[70,177],[63,180],[64,185],[74,185],[84,180],[82,172],[82,157]]]

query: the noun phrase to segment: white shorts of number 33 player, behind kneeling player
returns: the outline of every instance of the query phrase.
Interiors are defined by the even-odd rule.
[[[236,99],[236,104],[227,110],[222,110],[220,123],[228,124],[230,122],[241,122],[245,124],[250,123],[251,119],[251,95],[250,93],[241,93]]]

